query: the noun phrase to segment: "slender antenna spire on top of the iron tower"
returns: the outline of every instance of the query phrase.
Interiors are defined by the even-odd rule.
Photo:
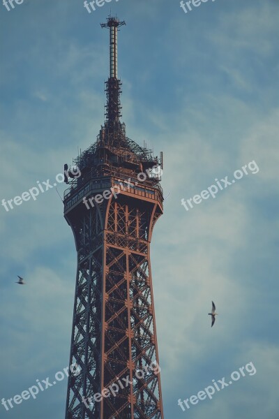
[[[112,131],[119,131],[121,117],[121,81],[117,78],[117,31],[126,24],[117,17],[107,17],[107,23],[102,23],[102,28],[110,28],[110,78],[106,82],[106,125]]]

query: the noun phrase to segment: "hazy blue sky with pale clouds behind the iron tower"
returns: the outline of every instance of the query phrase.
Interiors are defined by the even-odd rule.
[[[53,184],[104,121],[110,13],[119,32],[127,135],[164,152],[164,215],[151,247],[165,418],[278,418],[279,2],[216,0],[0,3],[1,200]],[[191,198],[255,161],[186,212]],[[58,186],[63,194],[64,186]],[[68,365],[75,291],[72,232],[55,189],[0,207],[0,399]],[[27,286],[15,284],[17,274]],[[211,300],[219,313],[211,329]],[[183,412],[177,406],[252,362]],[[63,418],[66,380],[0,418]]]

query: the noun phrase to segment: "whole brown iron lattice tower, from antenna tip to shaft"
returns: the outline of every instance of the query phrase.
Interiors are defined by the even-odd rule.
[[[120,122],[123,24],[111,16],[101,24],[110,29],[106,120],[74,160],[81,175],[68,172],[64,193],[77,249],[70,365],[81,369],[68,379],[66,419],[163,419],[150,262],[163,159],[130,140]]]

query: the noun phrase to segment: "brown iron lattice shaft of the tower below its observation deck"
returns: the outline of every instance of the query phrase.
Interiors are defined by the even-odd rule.
[[[66,215],[78,263],[70,364],[82,371],[69,378],[66,419],[163,418],[149,257],[161,213],[121,194]]]

